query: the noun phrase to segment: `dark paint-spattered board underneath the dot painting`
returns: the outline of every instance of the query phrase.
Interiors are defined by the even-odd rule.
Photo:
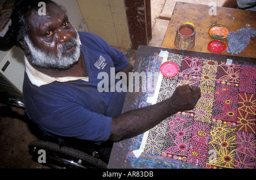
[[[192,51],[180,51],[176,49],[156,48],[148,46],[140,46],[135,59],[134,72],[145,72],[148,69],[159,72],[159,68],[155,68],[152,62],[162,61],[161,58],[157,58],[161,51],[168,51],[169,53],[175,53],[183,56],[201,57],[208,60],[216,60],[219,62],[225,62],[227,58],[232,58],[235,64],[250,64],[256,66],[256,58],[246,58],[228,55],[215,55],[212,53],[201,53]],[[152,57],[154,61],[152,61]],[[151,61],[151,62],[150,62]],[[154,64],[153,63],[153,64]],[[152,66],[150,68],[150,66]],[[134,110],[137,108],[145,107],[150,104],[146,103],[147,93],[127,93],[125,104],[123,106],[123,113]],[[181,168],[200,168],[199,166],[193,166],[187,162],[174,160],[172,158],[166,158],[162,156],[156,156],[154,154],[142,153],[138,158],[134,156],[134,150],[138,150],[141,146],[143,135],[133,137],[131,139],[122,140],[118,143],[114,143],[112,154],[110,156],[109,166],[110,169],[181,169]]]

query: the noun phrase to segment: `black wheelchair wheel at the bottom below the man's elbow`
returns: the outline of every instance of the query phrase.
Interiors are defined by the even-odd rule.
[[[51,143],[49,141],[32,141],[28,148],[32,154],[33,160],[39,162],[38,153],[39,150],[45,150],[46,152],[46,162],[43,165],[49,168],[55,169],[88,169],[88,168],[108,168],[108,164],[101,161],[100,159],[86,154],[80,150],[69,148],[67,146],[59,146],[59,144]]]

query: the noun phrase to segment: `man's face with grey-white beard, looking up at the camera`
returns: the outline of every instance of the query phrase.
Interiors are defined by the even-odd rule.
[[[80,57],[79,35],[59,7],[47,4],[46,15],[36,10],[26,14],[30,49],[27,56],[32,64],[42,68],[67,69]]]

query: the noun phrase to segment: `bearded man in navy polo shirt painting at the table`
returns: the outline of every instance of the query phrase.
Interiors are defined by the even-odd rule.
[[[46,15],[38,14],[39,2],[46,3]],[[125,92],[100,93],[97,75],[110,68],[129,73],[123,53],[94,34],[77,32],[52,1],[17,1],[11,19],[10,31],[25,54],[26,112],[44,132],[96,144],[120,141],[191,110],[200,98],[199,87],[180,86],[164,102],[121,114]]]

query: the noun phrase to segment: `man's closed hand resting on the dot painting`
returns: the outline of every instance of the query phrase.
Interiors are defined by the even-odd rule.
[[[170,103],[177,111],[188,111],[195,108],[200,97],[200,87],[178,86],[170,98]]]

